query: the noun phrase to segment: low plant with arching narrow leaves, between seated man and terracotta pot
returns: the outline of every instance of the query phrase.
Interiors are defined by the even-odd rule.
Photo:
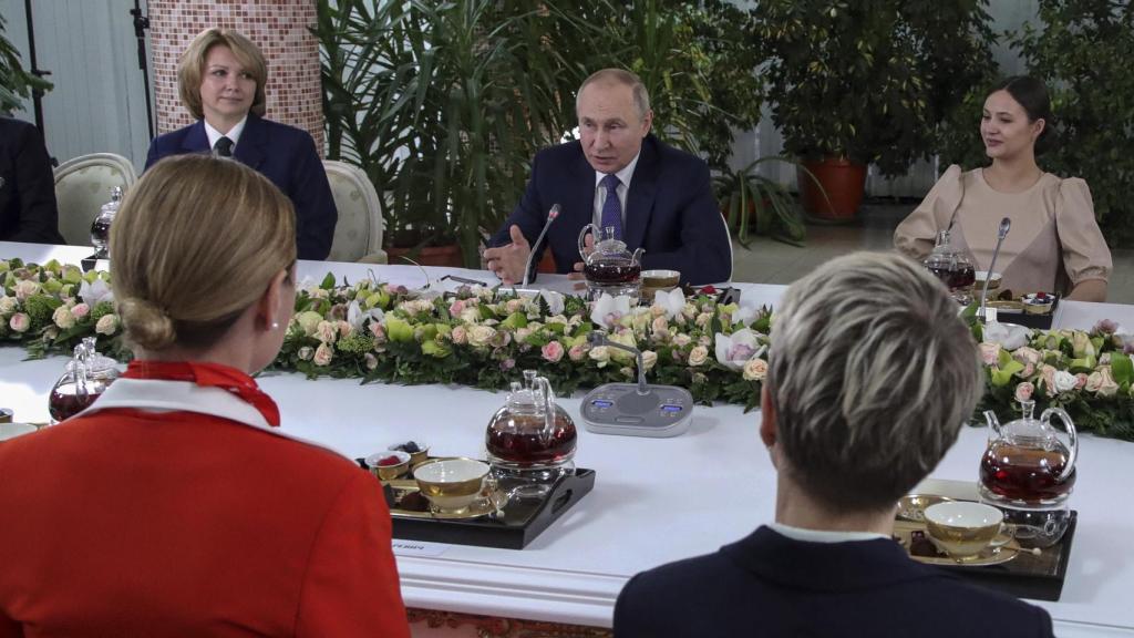
[[[799,203],[779,182],[760,175],[768,161],[795,163],[779,157],[760,158],[748,166],[713,178],[717,200],[725,211],[733,237],[747,247],[750,233],[799,245],[807,234]]]

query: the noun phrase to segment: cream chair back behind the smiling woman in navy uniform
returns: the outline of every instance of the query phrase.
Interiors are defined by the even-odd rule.
[[[330,261],[362,261],[386,263],[382,250],[382,208],[378,191],[370,178],[356,166],[337,160],[323,160],[327,181],[339,220],[335,226]]]

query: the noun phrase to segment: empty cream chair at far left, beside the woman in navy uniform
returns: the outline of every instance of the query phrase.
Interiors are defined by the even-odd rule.
[[[137,182],[130,160],[115,153],[91,153],[69,159],[56,169],[59,233],[71,245],[91,245],[91,224],[115,186],[122,193]]]

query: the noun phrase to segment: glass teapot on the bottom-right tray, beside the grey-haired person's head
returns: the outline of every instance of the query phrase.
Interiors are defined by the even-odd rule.
[[[1035,419],[1034,401],[1021,401],[1023,417],[1000,425],[990,410],[984,412],[991,433],[981,459],[982,500],[1013,509],[1049,510],[1063,506],[1075,485],[1078,436],[1075,423],[1061,408],[1048,408]],[[1064,445],[1051,427],[1059,417],[1067,430]]]

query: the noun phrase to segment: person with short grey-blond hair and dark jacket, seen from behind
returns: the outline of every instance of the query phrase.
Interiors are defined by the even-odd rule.
[[[615,636],[1051,636],[1046,611],[914,562],[890,538],[896,502],[983,389],[940,282],[897,254],[843,257],[788,289],[772,329],[760,436],[776,522],[634,577]]]

